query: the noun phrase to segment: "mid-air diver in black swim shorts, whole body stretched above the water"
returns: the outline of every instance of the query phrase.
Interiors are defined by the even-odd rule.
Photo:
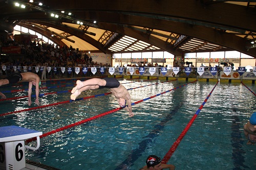
[[[129,112],[129,116],[134,116],[132,111],[131,96],[127,89],[119,83],[115,78],[92,78],[81,82],[76,81],[76,86],[71,91],[71,100],[76,100],[77,96],[81,94],[82,91],[93,90],[99,88],[110,88],[110,91],[115,96],[119,105]]]

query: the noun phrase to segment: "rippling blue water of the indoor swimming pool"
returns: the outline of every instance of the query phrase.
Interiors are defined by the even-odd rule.
[[[132,102],[188,83],[119,80],[130,89]],[[42,87],[48,88],[41,89],[40,93],[71,90],[75,81],[52,83],[43,84]],[[56,85],[70,86],[50,88]],[[215,82],[191,83],[134,105],[134,117],[129,117],[123,109],[41,138],[40,148],[26,150],[26,158],[63,170],[139,169],[145,165],[148,155],[165,156],[215,85]],[[254,85],[246,86],[256,92]],[[26,86],[1,87],[0,91],[18,88]],[[105,92],[110,91],[88,90],[78,98]],[[23,96],[27,92],[6,93],[7,98],[14,95]],[[39,98],[41,105],[69,100],[70,92]],[[174,164],[176,169],[255,169],[255,146],[247,145],[243,134],[244,124],[256,110],[255,103],[254,94],[242,84],[218,83],[168,163]],[[0,107],[0,114],[3,114],[36,105],[29,107],[25,98],[2,101]],[[0,122],[1,126],[15,125],[47,133],[115,108],[119,105],[109,94],[0,116]]]

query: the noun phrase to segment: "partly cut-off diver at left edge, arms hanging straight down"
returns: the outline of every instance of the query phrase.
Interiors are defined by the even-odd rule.
[[[37,104],[37,106],[39,106],[38,96],[39,96],[39,85],[41,84],[41,82],[38,75],[34,74],[33,72],[24,72],[24,73],[15,72],[11,74],[11,76],[5,79],[1,79],[0,86],[10,84],[10,83],[17,83],[19,81],[29,82],[29,88],[28,88],[29,106],[32,103],[31,102],[32,85],[35,86],[35,95],[36,95],[35,103]],[[3,98],[3,95],[2,95],[2,98]]]

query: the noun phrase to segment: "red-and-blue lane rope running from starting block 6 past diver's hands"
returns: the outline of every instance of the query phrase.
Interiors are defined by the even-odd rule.
[[[173,80],[171,80],[171,81],[173,81]],[[193,81],[193,82],[190,82],[190,83],[194,83],[194,82],[196,82],[196,81]],[[184,86],[186,86],[186,85],[188,85],[188,84],[190,84],[190,83],[186,83],[186,84],[181,85],[181,86],[179,86],[179,87],[176,87],[176,88],[173,88],[173,89],[170,89],[170,90],[161,92],[161,93],[159,93],[159,94],[150,96],[149,98],[146,98],[146,99],[143,99],[143,100],[134,102],[134,103],[132,103],[132,105],[141,103],[141,102],[146,101],[146,100],[150,100],[150,99],[152,99],[152,98],[155,98],[156,96],[159,96],[159,95],[161,95],[161,94],[164,94],[164,93],[173,91],[173,90],[178,89],[178,88],[180,88],[180,87],[184,87]],[[143,86],[142,86],[142,87],[143,87]],[[110,111],[107,111],[107,112],[104,112],[104,113],[95,115],[95,116],[93,116],[93,117],[83,119],[83,120],[81,120],[81,121],[79,121],[79,122],[76,122],[76,123],[73,123],[73,124],[64,126],[64,127],[62,127],[62,128],[58,128],[58,129],[56,129],[56,130],[52,130],[52,131],[50,131],[50,132],[44,133],[44,134],[40,135],[39,137],[42,138],[42,137],[46,137],[46,136],[52,135],[52,134],[57,133],[57,132],[59,132],[59,131],[63,131],[63,130],[66,130],[66,129],[69,129],[69,128],[72,128],[72,127],[75,127],[75,126],[78,126],[78,125],[81,125],[81,124],[90,122],[91,120],[100,118],[100,117],[102,117],[102,116],[104,116],[104,115],[107,115],[107,114],[110,114],[110,113],[114,113],[114,112],[116,112],[116,111],[118,111],[118,110],[121,110],[121,109],[123,109],[123,108],[119,107],[119,108],[116,108],[116,109],[113,109],[113,110],[110,110]],[[27,139],[26,142],[29,143],[29,142],[32,142],[32,141],[35,141],[35,140],[36,140],[36,137],[33,137],[33,138],[30,138],[30,139]]]

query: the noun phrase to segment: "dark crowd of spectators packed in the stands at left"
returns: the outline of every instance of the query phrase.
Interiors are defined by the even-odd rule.
[[[0,65],[7,66],[7,70],[2,70],[2,74],[10,74],[14,72],[13,68],[8,66],[20,66],[22,69],[20,72],[23,72],[24,66],[32,66],[33,72],[35,72],[35,66],[41,67],[43,65],[47,67],[57,67],[58,72],[57,74],[51,71],[48,73],[47,71],[47,78],[50,77],[62,77],[67,76],[71,77],[72,75],[63,74],[60,71],[60,67],[106,67],[108,65],[94,62],[92,57],[84,54],[82,55],[78,49],[73,48],[71,45],[68,46],[54,46],[53,44],[49,43],[36,43],[36,41],[29,41],[19,43],[15,40],[9,39],[2,39],[1,38],[1,47],[5,46],[19,46],[21,50],[21,54],[19,56],[23,56],[23,60],[19,58],[13,59],[12,61],[4,61],[0,58]],[[36,73],[36,72],[35,72]],[[41,76],[41,71],[38,71],[37,74]],[[74,70],[72,72],[74,76]],[[88,71],[88,75],[92,76],[90,71]]]

